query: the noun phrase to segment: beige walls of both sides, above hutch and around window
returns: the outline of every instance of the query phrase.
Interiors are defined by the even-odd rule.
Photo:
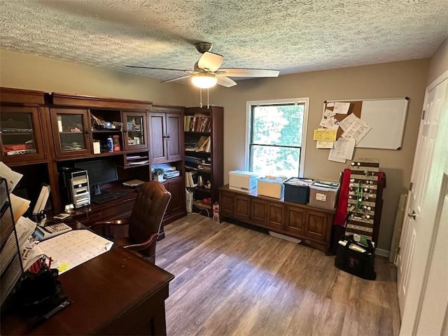
[[[329,162],[328,150],[317,150],[312,130],[318,127],[323,101],[409,97],[405,134],[400,151],[358,148],[355,157],[378,158],[386,172],[384,211],[379,248],[390,246],[395,209],[406,193],[428,78],[428,59],[298,73],[279,78],[239,81],[236,87],[210,90],[210,103],[224,107],[224,172],[244,168],[246,102],[309,97],[309,121],[304,176],[338,179],[345,164]],[[180,84],[160,84],[142,76],[82,66],[45,57],[0,50],[0,85],[45,92],[150,100],[158,104],[199,106],[199,90]],[[204,104],[207,95],[204,92]],[[348,163],[348,162],[347,162]]]

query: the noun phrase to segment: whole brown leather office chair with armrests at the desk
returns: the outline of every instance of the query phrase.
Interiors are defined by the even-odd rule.
[[[170,200],[171,194],[162,183],[146,182],[139,190],[130,218],[97,222],[93,228],[105,226],[110,234],[113,226],[129,224],[129,237],[119,237],[113,241],[154,263],[155,243]]]

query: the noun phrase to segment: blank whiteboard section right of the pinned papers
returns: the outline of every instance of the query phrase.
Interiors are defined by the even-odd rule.
[[[361,119],[372,130],[359,141],[356,147],[401,149],[409,98],[344,100],[332,102],[362,102]]]

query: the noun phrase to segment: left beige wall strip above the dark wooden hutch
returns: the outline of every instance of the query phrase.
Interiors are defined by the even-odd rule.
[[[0,50],[0,86],[184,105],[186,85]]]

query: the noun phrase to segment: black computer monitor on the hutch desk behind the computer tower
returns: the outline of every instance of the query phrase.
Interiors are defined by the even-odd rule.
[[[117,181],[117,168],[115,162],[107,159],[76,162],[76,168],[87,170],[90,188],[94,195],[101,194],[101,186],[104,183]]]

